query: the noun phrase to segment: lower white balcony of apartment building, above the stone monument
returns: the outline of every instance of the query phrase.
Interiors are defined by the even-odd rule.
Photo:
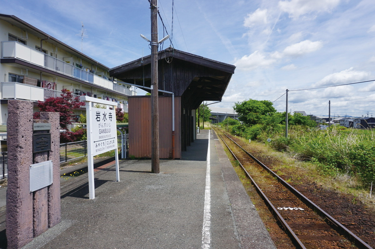
[[[45,101],[46,98],[60,97],[62,92],[18,82],[1,82],[1,99]],[[72,94],[74,97],[80,97]]]

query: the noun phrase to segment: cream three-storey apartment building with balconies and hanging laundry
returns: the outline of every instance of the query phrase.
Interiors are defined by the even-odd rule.
[[[131,86],[109,77],[98,61],[49,36],[13,15],[0,14],[0,123],[7,121],[7,101],[59,97],[62,89],[75,95],[111,100],[127,112]],[[75,114],[86,113],[84,108]]]

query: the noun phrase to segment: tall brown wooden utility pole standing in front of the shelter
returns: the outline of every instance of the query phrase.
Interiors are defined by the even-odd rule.
[[[157,0],[151,0],[151,173],[159,173],[159,98],[157,79]]]

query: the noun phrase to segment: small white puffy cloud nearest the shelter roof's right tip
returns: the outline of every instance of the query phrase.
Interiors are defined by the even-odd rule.
[[[239,69],[249,71],[257,67],[269,67],[275,62],[275,59],[267,59],[266,55],[262,52],[255,51],[251,55],[244,55],[241,59],[237,60],[234,65]]]

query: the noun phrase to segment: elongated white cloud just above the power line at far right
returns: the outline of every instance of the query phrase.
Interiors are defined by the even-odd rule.
[[[328,86],[328,85],[339,85],[345,83],[354,83],[357,81],[364,81],[370,76],[369,72],[356,71],[353,67],[350,69],[345,69],[338,73],[332,73],[327,75],[320,81],[318,81],[314,86]]]

